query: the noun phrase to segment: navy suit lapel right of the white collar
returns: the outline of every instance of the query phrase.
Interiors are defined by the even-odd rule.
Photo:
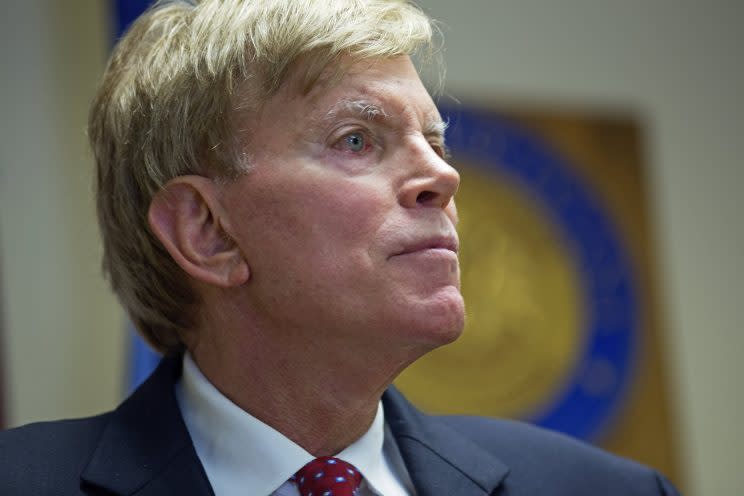
[[[508,474],[499,459],[416,410],[395,388],[385,393],[383,405],[385,420],[421,496],[492,494]]]

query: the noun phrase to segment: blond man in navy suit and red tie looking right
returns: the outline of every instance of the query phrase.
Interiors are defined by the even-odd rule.
[[[661,476],[389,388],[460,334],[459,177],[403,1],[163,2],[90,137],[104,268],[166,358],[0,438],[3,495],[661,495]],[[382,399],[381,399],[382,398]]]

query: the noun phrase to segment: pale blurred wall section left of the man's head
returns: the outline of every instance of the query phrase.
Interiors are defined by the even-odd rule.
[[[100,274],[87,107],[108,51],[104,2],[4,2],[0,253],[7,423],[121,397],[122,317]]]

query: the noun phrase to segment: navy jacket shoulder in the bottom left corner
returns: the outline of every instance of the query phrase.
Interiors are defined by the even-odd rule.
[[[110,414],[0,432],[0,494],[83,494],[80,474]]]

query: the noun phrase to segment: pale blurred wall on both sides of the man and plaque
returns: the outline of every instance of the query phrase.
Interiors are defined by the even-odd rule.
[[[744,4],[422,0],[447,88],[484,101],[634,112],[691,495],[744,489]],[[86,415],[123,394],[123,315],[100,277],[84,135],[109,46],[101,0],[0,2],[0,328],[5,420]]]

